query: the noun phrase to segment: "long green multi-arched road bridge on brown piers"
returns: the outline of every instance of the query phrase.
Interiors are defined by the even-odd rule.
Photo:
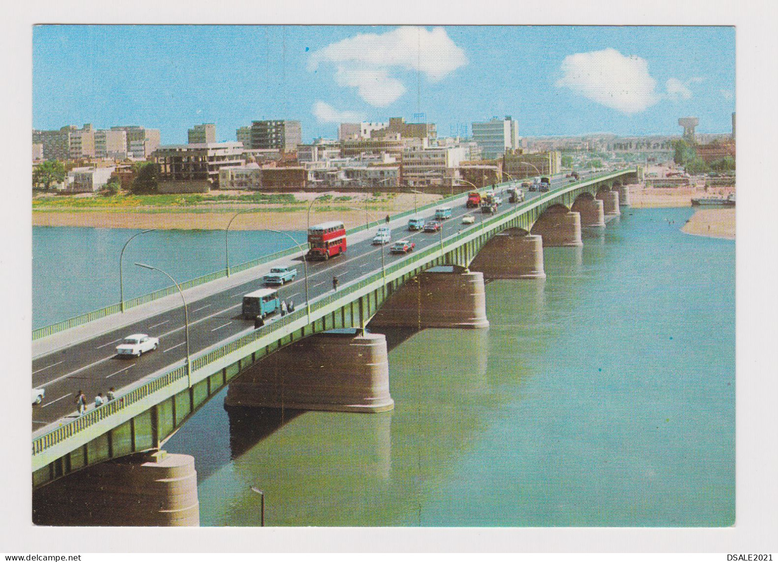
[[[488,326],[484,278],[545,277],[543,246],[582,245],[581,228],[604,227],[608,218],[619,215],[619,205],[629,203],[627,186],[641,178],[640,168],[580,180],[554,177],[548,192],[503,204],[494,215],[473,213],[464,208],[463,196],[450,197],[447,203],[454,216],[438,234],[405,232],[405,219],[395,218],[394,239],[414,240],[414,252],[384,255],[369,238],[359,239],[345,256],[310,264],[307,280],[282,288],[282,298],[298,302],[296,310],[259,329],[239,316],[242,295],[257,288],[261,276],[246,271],[225,288],[190,302],[188,341],[194,351],[189,356],[184,355],[184,310],[179,306],[142,318],[135,315],[131,323],[41,354],[33,361],[33,384],[45,386],[53,400],[47,410],[33,411],[32,476],[38,496],[33,519],[37,503],[47,507],[38,510],[36,522],[51,523],[44,512],[62,504],[65,494],[79,486],[62,484],[75,482],[72,479],[55,480],[89,469],[84,472],[92,476],[90,490],[95,481],[107,489],[125,481],[116,494],[103,497],[102,511],[95,508],[103,524],[196,525],[194,460],[166,455],[162,448],[214,394],[230,385],[228,405],[391,409],[382,327]],[[508,185],[500,184],[496,190]],[[429,215],[436,206],[440,202],[419,214]],[[476,215],[474,224],[461,223],[467,214]],[[289,253],[266,265],[295,264],[300,259],[300,252]],[[329,282],[333,275],[342,283],[337,291]],[[307,305],[300,298],[303,283],[310,286]],[[110,352],[124,335],[151,333],[162,326],[167,330],[158,351],[129,364],[119,363]],[[68,333],[59,337],[67,340]],[[42,339],[45,343],[54,337]],[[66,393],[72,393],[75,375],[87,392],[110,381],[120,389],[116,399],[75,415]],[[168,499],[152,502],[156,508],[135,523],[115,509],[120,502],[141,503],[149,497]],[[90,524],[73,513],[67,517],[71,525]],[[111,517],[120,519],[112,523]]]

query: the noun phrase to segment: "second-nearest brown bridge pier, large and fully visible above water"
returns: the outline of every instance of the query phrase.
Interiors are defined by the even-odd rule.
[[[383,333],[317,333],[283,347],[230,382],[227,407],[383,412],[389,360]]]

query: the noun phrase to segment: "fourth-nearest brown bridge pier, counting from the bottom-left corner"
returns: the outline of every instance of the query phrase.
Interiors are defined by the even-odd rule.
[[[545,279],[543,239],[521,229],[492,237],[470,264],[488,279]]]

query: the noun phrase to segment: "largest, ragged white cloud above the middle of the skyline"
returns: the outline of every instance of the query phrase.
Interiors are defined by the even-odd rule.
[[[338,86],[356,88],[372,106],[384,107],[406,92],[392,70],[421,72],[433,81],[468,62],[442,27],[398,27],[387,33],[359,33],[311,54],[310,71],[322,63],[335,65]]]

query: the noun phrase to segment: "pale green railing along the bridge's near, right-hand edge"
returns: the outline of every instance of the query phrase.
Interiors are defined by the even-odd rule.
[[[607,178],[608,175],[605,177]],[[545,201],[546,199],[554,197],[556,194],[559,194],[560,190],[570,190],[575,188],[578,184],[584,183],[584,181],[591,181],[594,179],[597,178],[588,178],[587,180],[579,180],[574,183],[569,183],[564,187],[559,187],[555,190],[549,191],[541,197],[531,201],[524,201],[524,203],[519,204],[517,207],[513,208],[513,211],[514,213],[516,211],[521,211],[530,205],[538,204],[541,201]],[[440,201],[438,201],[437,204],[440,204]],[[432,206],[435,205],[433,204]],[[456,243],[460,242],[464,238],[467,238],[468,236],[471,236],[475,232],[478,232],[478,230],[485,229],[489,225],[493,225],[496,222],[504,220],[506,220],[505,215],[492,215],[486,220],[469,225],[468,227],[462,229],[460,232],[457,232],[456,235],[443,239],[443,252],[445,253],[446,251],[445,246],[451,246],[452,244],[456,245]],[[408,254],[405,259],[398,260],[394,264],[391,264],[391,266],[386,267],[385,272],[386,274],[394,274],[395,271],[398,271],[403,267],[408,267],[408,265],[418,263],[419,261],[427,260],[427,258],[430,256],[440,253],[440,251],[440,246],[437,244],[427,246],[424,250],[419,250],[419,252]],[[322,295],[321,297],[316,298],[310,303],[310,310],[311,312],[317,312],[318,310],[331,305],[331,303],[335,302],[336,300],[343,298],[345,295],[350,295],[362,288],[367,287],[368,285],[381,279],[383,276],[384,271],[377,271],[374,274],[368,275],[366,278],[358,279],[356,281],[352,281],[349,284],[345,284],[342,288],[339,288],[338,291],[333,291],[328,295]],[[237,351],[241,347],[245,347],[256,340],[259,340],[261,337],[270,335],[280,327],[287,326],[296,320],[302,319],[304,316],[306,316],[306,314],[307,310],[300,308],[287,314],[286,316],[282,316],[281,318],[274,320],[267,326],[262,326],[258,330],[254,330],[244,336],[227,341],[226,344],[223,344],[222,346],[219,346],[216,349],[208,351],[207,353],[195,358],[192,361],[192,370],[196,371],[215,361],[219,361],[219,359],[226,357],[226,355],[233,353],[233,351]],[[182,379],[186,376],[187,372],[185,366],[173,368],[169,372],[166,372],[163,375],[159,375],[159,377],[156,377],[155,379],[145,382],[142,386],[138,386],[128,393],[118,396],[116,400],[112,400],[110,403],[104,404],[103,406],[98,407],[87,414],[84,414],[82,417],[78,417],[75,420],[68,422],[67,424],[61,425],[59,428],[34,438],[33,455],[36,455],[44,451],[44,449],[64,441],[72,435],[75,435],[75,433],[103,420],[105,417],[108,417],[111,414],[115,414],[122,408],[130,406],[132,403],[136,403],[139,400],[144,399],[146,396],[155,393],[157,390],[163,389],[178,379]]]

